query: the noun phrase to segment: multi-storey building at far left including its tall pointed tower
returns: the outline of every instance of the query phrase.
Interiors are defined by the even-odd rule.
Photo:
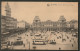
[[[5,6],[6,16],[1,15],[1,34],[14,31],[17,28],[17,19],[11,17],[11,8]]]

